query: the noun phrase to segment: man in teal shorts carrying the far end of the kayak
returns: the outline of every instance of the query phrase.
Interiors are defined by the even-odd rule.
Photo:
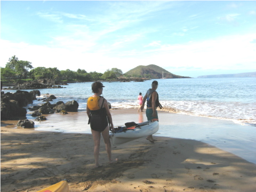
[[[153,81],[151,84],[151,89],[149,89],[147,91],[147,93],[142,101],[141,110],[144,109],[144,105],[147,100],[146,116],[147,116],[148,121],[150,121],[154,118],[158,119],[157,111],[156,111],[156,108],[158,107],[157,104],[159,103],[158,93],[156,92],[157,87],[158,87],[158,82]],[[148,137],[146,139],[152,143],[154,143],[154,141],[156,141],[155,139],[153,139],[152,135],[148,135]]]

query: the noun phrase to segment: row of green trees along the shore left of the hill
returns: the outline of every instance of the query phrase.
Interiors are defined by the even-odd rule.
[[[85,69],[77,69],[73,71],[70,69],[59,70],[57,67],[34,68],[29,61],[19,60],[18,57],[13,55],[9,58],[5,68],[1,67],[1,81],[10,82],[17,79],[53,79],[54,81],[110,81],[118,79],[123,76],[121,69],[112,68],[107,69],[105,73],[98,73],[96,71],[87,73]]]

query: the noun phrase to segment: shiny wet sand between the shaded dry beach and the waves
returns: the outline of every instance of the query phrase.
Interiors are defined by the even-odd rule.
[[[124,126],[126,122],[147,121],[145,111],[137,112],[137,108],[111,109],[110,113],[113,116],[114,127],[117,127]],[[256,158],[252,155],[256,153],[256,141],[253,138],[256,130],[253,126],[237,124],[229,119],[157,111],[159,130],[155,136],[202,141],[256,164]],[[41,122],[34,121],[35,117],[28,116],[29,120],[35,122],[35,129],[30,130],[91,134],[86,111],[44,116],[47,120]],[[7,123],[7,127],[13,128],[18,121],[1,121],[2,123]]]

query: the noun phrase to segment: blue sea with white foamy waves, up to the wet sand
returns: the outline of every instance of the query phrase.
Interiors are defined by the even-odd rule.
[[[152,79],[145,82],[103,82],[103,97],[113,108],[138,107],[138,95],[144,96],[153,80],[158,81],[159,101],[165,108],[181,114],[230,119],[256,126],[256,78],[182,78]],[[92,95],[92,82],[70,83],[64,89],[41,89],[42,99],[53,94],[57,101],[76,100],[78,111],[86,110]],[[31,91],[31,90],[25,90]],[[15,92],[14,90],[12,92]],[[42,103],[34,101],[33,105]]]

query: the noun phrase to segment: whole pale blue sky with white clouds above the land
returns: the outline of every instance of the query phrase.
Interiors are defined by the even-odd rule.
[[[0,65],[123,73],[256,71],[255,1],[1,1]]]

